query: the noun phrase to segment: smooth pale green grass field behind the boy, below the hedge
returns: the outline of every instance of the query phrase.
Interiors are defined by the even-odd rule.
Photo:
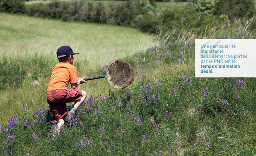
[[[131,55],[156,45],[154,36],[126,27],[68,23],[19,15],[0,14],[1,54],[41,54],[55,57],[61,45],[80,53],[88,68]]]

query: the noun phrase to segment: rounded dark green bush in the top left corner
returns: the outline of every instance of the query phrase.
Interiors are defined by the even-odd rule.
[[[25,9],[20,0],[0,0],[0,12],[19,13]]]

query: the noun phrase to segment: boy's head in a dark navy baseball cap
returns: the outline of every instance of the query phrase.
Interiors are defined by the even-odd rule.
[[[79,53],[74,53],[69,46],[65,45],[58,48],[56,54],[59,62],[70,62],[70,59],[72,59],[72,64],[73,64],[73,55],[79,54]]]

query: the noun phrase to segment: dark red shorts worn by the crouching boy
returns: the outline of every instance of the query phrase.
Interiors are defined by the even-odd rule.
[[[58,121],[67,114],[66,103],[75,102],[82,97],[82,91],[78,89],[57,89],[55,91],[47,91],[47,103],[54,116]]]

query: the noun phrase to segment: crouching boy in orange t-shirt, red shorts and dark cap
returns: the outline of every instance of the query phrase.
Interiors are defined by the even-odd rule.
[[[73,65],[73,53],[69,46],[61,46],[57,50],[59,63],[52,68],[52,75],[47,88],[47,103],[58,122],[58,127],[62,127],[64,122],[75,119],[75,113],[84,102],[87,94],[85,91],[77,90],[77,86],[86,83],[84,77],[77,78],[76,67]],[[67,89],[68,84],[71,89]],[[73,108],[67,113],[67,102],[74,102]]]

